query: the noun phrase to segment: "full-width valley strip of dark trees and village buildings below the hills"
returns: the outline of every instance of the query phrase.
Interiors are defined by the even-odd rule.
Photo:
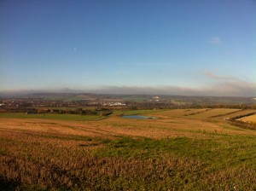
[[[0,97],[0,113],[90,113],[115,109],[170,109],[200,107],[254,108],[256,98],[196,96],[113,96],[48,94],[38,96]],[[58,97],[59,96],[59,97]],[[244,102],[244,103],[243,103]]]

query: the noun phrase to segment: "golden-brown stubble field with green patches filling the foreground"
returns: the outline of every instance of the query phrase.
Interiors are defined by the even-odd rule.
[[[223,120],[241,112],[101,120],[0,114],[0,189],[255,190],[256,130]]]

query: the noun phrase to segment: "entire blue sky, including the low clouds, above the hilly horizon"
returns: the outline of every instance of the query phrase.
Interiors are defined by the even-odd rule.
[[[2,0],[14,90],[256,96],[256,1]]]

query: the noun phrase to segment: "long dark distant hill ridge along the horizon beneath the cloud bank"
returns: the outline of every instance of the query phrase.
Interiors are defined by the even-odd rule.
[[[44,99],[59,101],[79,101],[110,99],[122,101],[152,101],[153,97],[159,96],[159,101],[170,101],[172,103],[195,103],[195,104],[256,104],[253,97],[231,97],[231,96],[161,96],[161,95],[116,95],[116,94],[92,94],[92,93],[29,93],[0,94],[0,98],[14,99]]]

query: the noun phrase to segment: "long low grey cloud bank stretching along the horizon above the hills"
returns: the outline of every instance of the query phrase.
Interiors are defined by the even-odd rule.
[[[87,87],[80,90],[69,88],[50,90],[14,90],[1,91],[1,94],[8,93],[36,93],[36,92],[57,92],[57,93],[97,93],[97,94],[126,94],[126,95],[172,95],[172,96],[245,96],[256,97],[256,84],[250,82],[219,82],[205,87],[185,86],[104,86]]]

